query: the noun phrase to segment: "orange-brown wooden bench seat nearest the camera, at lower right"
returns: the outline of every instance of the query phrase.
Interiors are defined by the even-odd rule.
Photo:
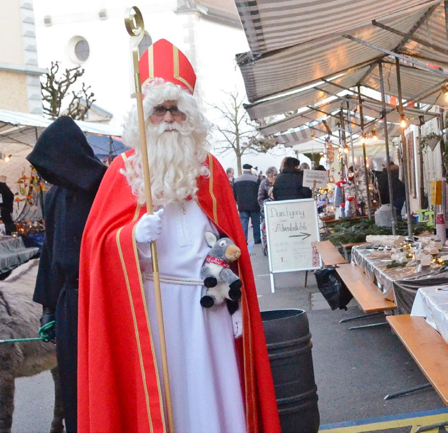
[[[386,319],[448,406],[448,344],[424,317],[400,314]]]

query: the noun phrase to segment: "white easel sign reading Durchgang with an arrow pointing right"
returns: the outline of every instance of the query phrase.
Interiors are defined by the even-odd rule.
[[[264,217],[273,293],[273,274],[320,269],[319,218],[313,199],[265,202]]]

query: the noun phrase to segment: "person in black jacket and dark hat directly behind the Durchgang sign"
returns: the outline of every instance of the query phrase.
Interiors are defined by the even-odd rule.
[[[274,200],[309,199],[313,196],[311,189],[303,186],[303,170],[299,166],[297,158],[285,158],[272,190]]]

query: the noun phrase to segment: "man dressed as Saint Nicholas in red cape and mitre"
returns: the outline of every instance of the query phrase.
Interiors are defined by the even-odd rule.
[[[132,108],[123,132],[132,149],[108,168],[82,239],[78,430],[167,431],[150,249],[157,241],[175,432],[280,432],[246,240],[226,173],[206,150],[192,66],[162,39],[139,69],[154,213]],[[236,312],[200,305],[206,231],[241,249]]]

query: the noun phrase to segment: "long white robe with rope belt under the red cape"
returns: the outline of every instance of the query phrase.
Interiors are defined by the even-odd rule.
[[[216,227],[194,200],[168,205],[161,219],[160,276],[199,280],[210,250],[204,233],[217,233]],[[150,273],[150,259],[141,256],[140,267]],[[152,281],[145,281],[144,289],[164,395]],[[175,432],[243,433],[246,419],[232,319],[225,303],[203,308],[202,289],[161,283]]]

